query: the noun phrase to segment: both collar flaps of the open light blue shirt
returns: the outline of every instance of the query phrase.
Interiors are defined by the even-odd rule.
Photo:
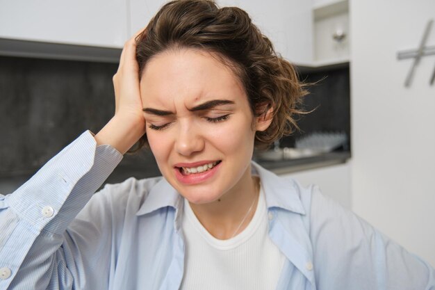
[[[260,177],[268,209],[278,207],[293,211],[297,214],[305,214],[304,207],[299,198],[299,191],[291,179],[278,177],[273,172],[259,166],[258,163],[254,161],[252,161],[252,168]],[[139,208],[136,216],[149,214],[162,207],[179,209],[182,207],[182,204],[182,196],[165,178],[161,177],[156,185],[151,188],[151,191],[149,191],[145,202],[143,202],[142,206]]]

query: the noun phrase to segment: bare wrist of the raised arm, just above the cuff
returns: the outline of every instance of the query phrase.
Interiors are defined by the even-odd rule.
[[[126,120],[115,115],[96,135],[97,145],[110,145],[125,154],[145,134],[145,120]]]

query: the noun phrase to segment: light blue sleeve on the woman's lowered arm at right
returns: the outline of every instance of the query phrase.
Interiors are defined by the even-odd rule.
[[[313,187],[313,264],[318,289],[434,290],[434,268]]]

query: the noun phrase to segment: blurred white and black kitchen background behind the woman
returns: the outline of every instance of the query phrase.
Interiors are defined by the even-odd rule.
[[[0,1],[0,193],[106,124],[122,45],[164,2]],[[427,29],[435,2],[217,3],[247,10],[300,79],[315,83],[300,131],[254,159],[318,184],[435,266],[435,28]],[[157,175],[142,151],[126,155],[108,182]]]

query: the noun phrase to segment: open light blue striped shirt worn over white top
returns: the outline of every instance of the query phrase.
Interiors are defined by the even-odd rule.
[[[86,131],[0,195],[1,290],[179,289],[183,198],[163,177],[130,178],[93,195],[121,159]],[[276,289],[435,289],[429,264],[316,186],[252,166],[268,234],[286,257]]]

